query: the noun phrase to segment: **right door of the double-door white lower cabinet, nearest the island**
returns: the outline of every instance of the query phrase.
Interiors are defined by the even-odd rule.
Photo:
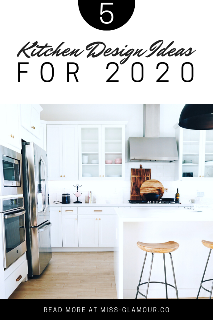
[[[98,216],[98,246],[114,247],[116,239],[115,215]]]

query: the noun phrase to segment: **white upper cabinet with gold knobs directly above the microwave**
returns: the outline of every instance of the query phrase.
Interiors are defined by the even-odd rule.
[[[10,145],[21,149],[19,132],[20,117],[18,104],[4,104],[0,106],[0,141],[7,148]]]

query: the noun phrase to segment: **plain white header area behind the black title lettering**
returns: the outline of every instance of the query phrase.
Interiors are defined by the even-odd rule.
[[[131,0],[130,0],[131,1]],[[128,1],[124,1],[126,5]],[[82,18],[77,0],[4,1],[1,3],[1,77],[0,103],[212,103],[212,1],[196,0],[136,0],[132,18],[123,27],[113,31],[97,30]],[[192,47],[191,56],[133,57],[120,65],[123,57],[87,58],[87,44],[101,41],[106,48],[149,49],[157,40],[164,40],[162,48],[171,41],[177,50]],[[63,48],[85,50],[79,57],[27,58],[17,53],[29,42],[48,43],[54,49],[61,42]],[[18,62],[29,62],[21,70],[18,82]],[[43,62],[54,66],[54,79],[45,83],[40,76]],[[67,82],[67,62],[79,65],[76,82],[70,75]],[[115,71],[109,62],[116,62],[119,71],[113,77],[119,82],[106,82]],[[144,66],[142,82],[133,82],[131,67],[134,62]],[[156,69],[158,62],[166,62],[169,71],[165,80],[156,82],[165,66]],[[194,79],[186,83],[181,79],[184,62],[194,65]],[[45,72],[45,68],[46,72]],[[49,79],[49,66],[44,77]],[[186,68],[187,70],[187,68]],[[137,73],[135,75],[137,76]],[[190,78],[186,72],[186,78]]]

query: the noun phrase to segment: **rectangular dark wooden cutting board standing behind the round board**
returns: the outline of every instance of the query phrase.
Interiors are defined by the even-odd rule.
[[[130,200],[142,200],[140,195],[141,185],[144,181],[151,179],[151,169],[131,169],[131,196]]]

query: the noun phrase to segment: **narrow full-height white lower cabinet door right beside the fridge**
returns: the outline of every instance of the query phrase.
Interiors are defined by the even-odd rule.
[[[50,208],[51,246],[62,247],[62,215],[61,208]]]

